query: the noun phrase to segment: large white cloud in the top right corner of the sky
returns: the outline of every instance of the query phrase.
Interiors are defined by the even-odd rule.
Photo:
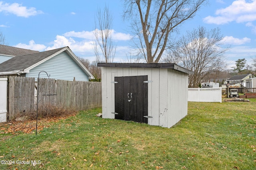
[[[246,2],[245,0],[235,0],[226,8],[216,10],[214,16],[204,18],[206,23],[225,24],[232,21],[237,23],[249,22],[256,20],[256,0]]]

